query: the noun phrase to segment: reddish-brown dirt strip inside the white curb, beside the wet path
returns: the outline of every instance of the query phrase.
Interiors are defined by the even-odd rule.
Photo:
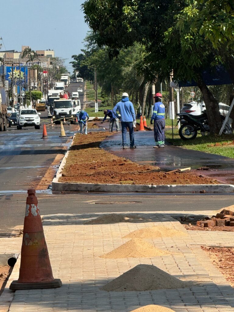
[[[76,134],[59,182],[110,184],[218,184],[191,172],[166,173],[158,167],[139,165],[99,148],[109,132]],[[113,140],[115,137],[113,135]]]

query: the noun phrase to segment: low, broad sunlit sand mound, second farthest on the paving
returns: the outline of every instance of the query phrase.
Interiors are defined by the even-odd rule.
[[[150,238],[150,237],[175,237],[175,236],[187,236],[186,232],[170,229],[163,226],[144,227],[143,229],[136,230],[124,236],[124,238]]]

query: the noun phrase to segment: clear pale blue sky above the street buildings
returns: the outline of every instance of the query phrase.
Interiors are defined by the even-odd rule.
[[[0,37],[7,50],[53,49],[55,56],[68,58],[83,48],[88,29],[81,11],[83,0],[7,0],[1,4]],[[2,43],[2,41],[0,41]],[[5,50],[2,46],[2,50]]]

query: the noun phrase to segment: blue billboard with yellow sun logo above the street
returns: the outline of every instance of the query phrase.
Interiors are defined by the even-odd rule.
[[[12,71],[13,68],[13,71]],[[5,79],[11,83],[13,78],[14,85],[27,84],[28,68],[27,66],[6,66]]]

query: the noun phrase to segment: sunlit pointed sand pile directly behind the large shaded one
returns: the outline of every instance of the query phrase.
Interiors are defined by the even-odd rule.
[[[118,248],[101,256],[101,258],[118,259],[118,258],[142,258],[142,257],[157,257],[168,255],[168,251],[163,251],[154,247],[147,241],[140,238],[133,238],[127,241]]]

